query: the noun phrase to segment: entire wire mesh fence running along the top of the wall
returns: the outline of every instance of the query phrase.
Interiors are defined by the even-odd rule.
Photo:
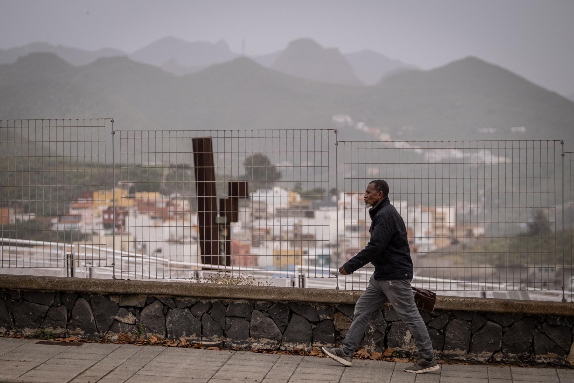
[[[370,264],[337,270],[369,241],[362,196],[385,179],[414,285],[572,300],[574,158],[561,141],[113,124],[1,121],[0,272],[360,290]]]

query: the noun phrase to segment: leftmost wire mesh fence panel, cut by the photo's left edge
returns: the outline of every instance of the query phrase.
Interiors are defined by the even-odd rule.
[[[112,265],[92,198],[112,186],[112,129],[105,118],[0,120],[3,273],[91,276]]]

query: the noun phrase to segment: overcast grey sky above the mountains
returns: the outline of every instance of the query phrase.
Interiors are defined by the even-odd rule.
[[[133,52],[154,40],[226,40],[258,55],[311,37],[432,68],[473,55],[574,93],[572,0],[0,0],[0,47],[49,40]]]

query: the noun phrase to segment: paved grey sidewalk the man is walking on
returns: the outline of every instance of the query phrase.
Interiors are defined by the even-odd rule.
[[[344,367],[329,358],[162,346],[83,343],[38,345],[0,338],[0,382],[44,383],[574,383],[574,370],[442,365],[440,373],[412,374],[407,363],[355,359]]]

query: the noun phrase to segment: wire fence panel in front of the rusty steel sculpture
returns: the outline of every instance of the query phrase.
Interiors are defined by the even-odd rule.
[[[335,276],[332,130],[115,137],[121,278]]]

